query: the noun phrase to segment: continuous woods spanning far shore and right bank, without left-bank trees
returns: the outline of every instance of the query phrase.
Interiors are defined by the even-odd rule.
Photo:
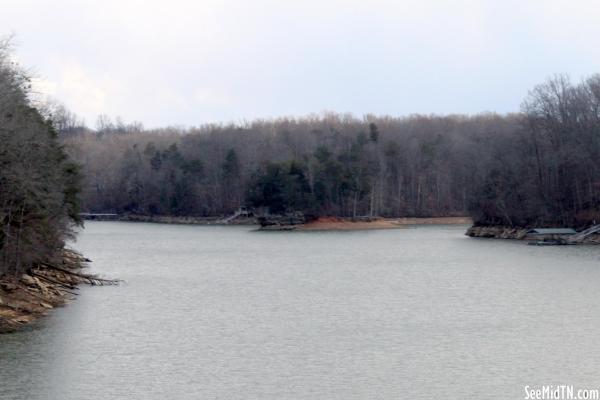
[[[600,76],[558,76],[503,116],[322,114],[160,130],[102,117],[90,130],[66,115],[61,126],[93,212],[216,216],[248,205],[512,226],[600,215]]]

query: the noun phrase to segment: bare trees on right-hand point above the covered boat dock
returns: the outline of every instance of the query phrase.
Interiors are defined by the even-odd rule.
[[[600,75],[558,76],[524,101],[518,129],[499,137],[473,191],[476,221],[511,226],[600,221]]]

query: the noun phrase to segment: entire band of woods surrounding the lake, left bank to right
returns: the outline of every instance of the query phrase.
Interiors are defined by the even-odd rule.
[[[52,261],[81,210],[600,221],[600,75],[548,79],[507,115],[324,113],[162,129],[101,116],[90,129],[32,101],[9,56],[0,42],[0,274]]]

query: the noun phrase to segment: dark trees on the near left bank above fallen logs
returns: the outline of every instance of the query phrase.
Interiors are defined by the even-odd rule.
[[[79,172],[0,42],[0,276],[50,262],[79,221]]]

